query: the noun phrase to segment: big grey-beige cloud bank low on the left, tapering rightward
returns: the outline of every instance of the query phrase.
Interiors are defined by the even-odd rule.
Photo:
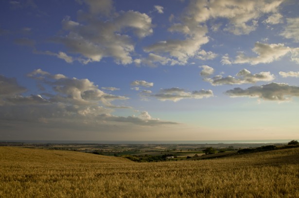
[[[52,75],[41,69],[34,70],[27,76],[52,90],[24,96],[22,93],[27,90],[19,86],[15,78],[0,76],[0,122],[55,123],[64,126],[114,125],[116,122],[148,126],[177,124],[153,118],[147,111],[141,112],[138,117],[112,115],[115,108],[122,106],[114,106],[111,102],[128,98],[101,91],[88,79]],[[112,87],[108,88],[112,90]]]

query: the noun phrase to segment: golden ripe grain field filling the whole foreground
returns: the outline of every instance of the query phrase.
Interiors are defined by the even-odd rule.
[[[134,163],[0,147],[0,198],[299,198],[299,148],[221,159]]]

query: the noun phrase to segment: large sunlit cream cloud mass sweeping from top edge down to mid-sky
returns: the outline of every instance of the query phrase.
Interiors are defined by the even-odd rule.
[[[202,45],[209,42],[206,26],[208,20],[227,18],[229,25],[224,30],[236,35],[248,34],[257,28],[258,19],[262,15],[278,14],[277,9],[281,2],[282,0],[271,2],[266,0],[191,0],[184,13],[178,18],[179,22],[173,23],[168,28],[170,32],[182,34],[184,36],[183,39],[159,41],[150,46],[143,47],[143,49],[145,52],[163,57],[163,60],[160,61],[161,64],[168,64],[170,62],[171,64],[184,65],[190,58],[194,57],[204,61],[212,60],[217,54],[201,49]],[[174,17],[171,18],[173,20]],[[217,29],[219,28],[220,25]],[[215,29],[216,27],[214,27]],[[171,59],[172,61],[167,59]],[[223,59],[222,63],[229,64],[229,60]]]

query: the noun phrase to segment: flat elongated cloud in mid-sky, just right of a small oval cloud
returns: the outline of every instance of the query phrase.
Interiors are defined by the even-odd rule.
[[[211,90],[200,90],[200,91],[185,91],[179,88],[161,89],[158,93],[152,94],[150,96],[156,97],[158,100],[166,101],[170,100],[173,102],[180,101],[182,99],[202,99],[204,97],[208,98],[213,96],[213,91]]]

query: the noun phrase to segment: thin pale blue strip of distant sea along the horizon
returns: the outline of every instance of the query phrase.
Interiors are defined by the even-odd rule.
[[[288,143],[293,139],[259,139],[259,140],[0,140],[0,142],[52,143],[52,144],[253,144],[253,143]]]

